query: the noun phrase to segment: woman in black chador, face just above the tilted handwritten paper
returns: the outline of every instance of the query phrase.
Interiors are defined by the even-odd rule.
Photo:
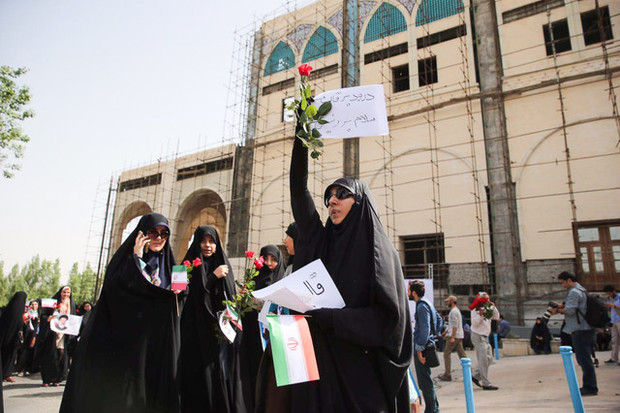
[[[260,250],[260,256],[265,259],[264,266],[254,278],[254,289],[260,290],[268,287],[284,277],[286,265],[282,259],[280,249],[275,245],[265,245]],[[263,345],[261,331],[258,324],[258,312],[261,310],[262,301],[256,300],[254,310],[246,313],[242,318],[243,332],[238,335],[236,366],[241,377],[243,387],[243,401],[247,413],[255,410],[256,379],[261,358],[263,357]]]

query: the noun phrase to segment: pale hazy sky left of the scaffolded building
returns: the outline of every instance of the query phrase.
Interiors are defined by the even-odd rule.
[[[0,261],[82,268],[98,194],[124,169],[222,139],[234,34],[280,0],[0,0],[0,65],[35,117],[0,177]],[[105,201],[105,199],[104,199]],[[92,241],[90,241],[92,243]],[[93,245],[90,246],[91,248]]]

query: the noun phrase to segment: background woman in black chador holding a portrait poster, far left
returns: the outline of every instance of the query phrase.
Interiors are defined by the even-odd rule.
[[[56,333],[50,328],[52,314],[56,311],[60,314],[75,314],[75,303],[71,294],[71,288],[67,285],[61,287],[52,296],[56,299],[56,309],[43,308],[41,310],[41,325],[37,339],[37,359],[41,368],[43,386],[58,386],[67,378],[69,369],[69,354],[66,349],[70,346],[72,336]]]

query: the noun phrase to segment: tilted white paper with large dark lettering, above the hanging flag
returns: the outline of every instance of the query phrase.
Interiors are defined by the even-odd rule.
[[[261,290],[254,297],[305,313],[314,308],[343,308],[345,302],[323,262],[318,259]]]

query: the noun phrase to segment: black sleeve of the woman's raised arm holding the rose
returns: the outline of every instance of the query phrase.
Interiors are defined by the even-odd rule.
[[[303,232],[309,231],[321,217],[308,191],[308,148],[295,138],[291,158],[291,208],[295,222]]]

